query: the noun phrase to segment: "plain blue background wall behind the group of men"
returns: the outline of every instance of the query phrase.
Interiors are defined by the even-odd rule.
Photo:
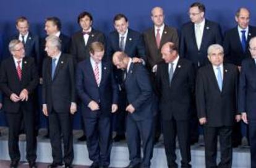
[[[93,27],[106,35],[113,30],[113,17],[124,13],[129,19],[130,28],[143,31],[151,27],[150,11],[155,6],[163,7],[166,23],[181,28],[182,23],[189,21],[187,15],[190,4],[195,1],[184,0],[1,0],[0,1],[0,34],[3,40],[15,33],[15,19],[24,15],[30,21],[33,33],[45,36],[44,20],[49,16],[57,16],[62,21],[62,31],[72,35],[79,30],[77,15],[88,11],[93,15]],[[234,27],[234,14],[239,7],[247,7],[251,11],[251,25],[256,25],[256,1],[254,0],[215,0],[200,1],[206,6],[206,17],[220,23],[223,32]],[[1,47],[0,47],[1,49]],[[7,49],[4,43],[4,50]],[[0,51],[4,52],[4,51]],[[4,54],[3,54],[4,55]],[[77,116],[75,116],[77,118]],[[0,125],[4,124],[0,114]],[[77,119],[75,119],[77,120]],[[77,122],[75,122],[77,123]],[[75,124],[77,127],[77,124]]]

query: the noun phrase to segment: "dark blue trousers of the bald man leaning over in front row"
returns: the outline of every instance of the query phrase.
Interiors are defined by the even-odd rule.
[[[141,162],[140,143],[142,138],[143,167],[150,167],[150,160],[153,156],[153,127],[153,118],[138,121],[127,115],[127,145],[131,165]]]

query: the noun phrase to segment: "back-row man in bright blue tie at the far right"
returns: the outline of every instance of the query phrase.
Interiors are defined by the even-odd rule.
[[[250,38],[256,36],[256,28],[249,25],[250,12],[242,7],[236,12],[237,26],[227,30],[224,35],[224,62],[237,65],[241,69],[242,60],[250,57],[248,43]],[[241,145],[242,133],[241,124],[233,127],[233,147]]]

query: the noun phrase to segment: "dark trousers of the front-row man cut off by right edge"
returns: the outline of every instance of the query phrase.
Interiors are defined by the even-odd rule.
[[[250,167],[256,168],[256,120],[249,120]]]

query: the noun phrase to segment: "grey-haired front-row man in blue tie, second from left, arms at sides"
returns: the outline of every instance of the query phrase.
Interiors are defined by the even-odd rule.
[[[74,159],[72,114],[77,111],[74,59],[69,54],[61,52],[61,40],[55,35],[46,38],[45,51],[48,57],[43,62],[42,101],[43,114],[49,118],[49,137],[53,155],[53,163],[48,167],[62,165],[62,137],[65,167],[70,168]]]

